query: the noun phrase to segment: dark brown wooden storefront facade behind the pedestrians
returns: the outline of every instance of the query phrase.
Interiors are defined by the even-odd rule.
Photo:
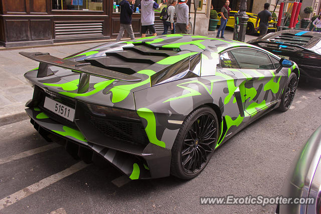
[[[120,1],[0,0],[0,45],[17,47],[115,39],[119,32]],[[154,1],[163,3],[164,7],[167,2]],[[136,37],[140,36],[141,29],[139,4],[140,0],[136,0],[132,15]],[[191,6],[190,1],[188,5]],[[163,22],[157,19],[159,13],[159,9],[155,11],[157,34],[163,32]]]

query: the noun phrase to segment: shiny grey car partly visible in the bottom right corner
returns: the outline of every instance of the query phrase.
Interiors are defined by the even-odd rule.
[[[275,213],[321,213],[321,126],[297,155],[283,184],[283,197],[314,198],[309,204],[278,204]]]

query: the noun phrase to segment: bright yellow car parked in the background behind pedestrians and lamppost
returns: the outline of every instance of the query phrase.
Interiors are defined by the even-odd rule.
[[[237,11],[230,11],[230,18],[227,21],[226,27],[234,28],[234,22],[235,18],[234,15],[237,14]],[[218,19],[220,20],[217,25],[221,25],[221,13],[217,13]],[[254,34],[255,33],[255,23],[257,19],[257,14],[247,13],[246,15],[249,17],[249,20],[247,21],[247,27],[246,27],[246,34]],[[276,32],[276,23],[275,21],[271,20],[269,22],[269,26],[267,29],[267,32]],[[257,24],[257,28],[259,27],[259,24]],[[260,33],[259,30],[257,30],[257,33]]]

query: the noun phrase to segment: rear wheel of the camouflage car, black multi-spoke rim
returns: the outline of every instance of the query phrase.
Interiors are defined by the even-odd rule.
[[[200,107],[190,113],[172,147],[171,174],[186,180],[199,175],[214,153],[218,133],[219,123],[212,108]]]

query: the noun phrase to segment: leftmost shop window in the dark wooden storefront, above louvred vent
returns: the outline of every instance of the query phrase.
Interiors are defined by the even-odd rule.
[[[102,11],[102,0],[52,0],[53,10]]]

